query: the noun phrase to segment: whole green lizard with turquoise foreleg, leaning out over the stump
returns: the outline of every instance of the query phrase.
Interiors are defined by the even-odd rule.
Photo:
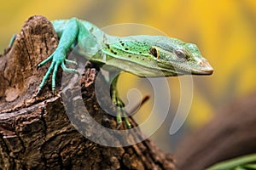
[[[43,66],[50,60],[51,65],[38,93],[52,72],[52,91],[55,91],[55,76],[59,66],[63,71],[77,72],[67,68],[65,64],[76,64],[66,59],[70,49],[75,49],[84,58],[96,65],[107,65],[109,71],[116,68],[130,72],[138,77],[176,77],[185,74],[211,75],[212,66],[204,59],[195,44],[185,43],[176,38],[160,36],[114,37],[85,20],[55,20],[52,22],[55,32],[60,38],[55,52],[38,64]],[[107,70],[108,70],[107,69]],[[119,99],[116,89],[118,77],[112,82],[112,101],[117,105],[117,122],[125,116],[124,103]],[[37,94],[38,94],[37,93]],[[131,124],[125,118],[127,127]]]

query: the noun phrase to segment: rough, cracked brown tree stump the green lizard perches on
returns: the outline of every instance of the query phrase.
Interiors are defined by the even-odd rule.
[[[86,109],[96,122],[117,127],[115,117],[102,111],[96,100],[97,70],[93,65],[86,67],[80,82],[74,85],[78,91],[66,88],[66,93],[54,97],[48,81],[42,93],[33,97],[49,64],[39,70],[36,67],[54,52],[57,43],[50,22],[43,16],[33,16],[26,20],[12,48],[0,56],[0,169],[175,169],[172,156],[164,155],[148,139],[131,146],[107,147],[84,137],[106,135],[95,132],[97,127],[88,115],[71,111],[70,122],[63,96],[67,99],[72,94],[70,100],[82,99],[82,93]],[[73,79],[72,75],[66,76]],[[106,83],[100,76],[99,81]],[[56,82],[56,87],[61,87],[61,71]],[[99,90],[108,94],[108,89]],[[110,103],[108,98],[100,100]],[[132,119],[131,124],[136,126]],[[83,127],[89,131],[84,132]],[[125,126],[120,127],[123,129]],[[107,142],[122,144],[119,137],[108,135],[111,138],[105,139]],[[141,133],[133,131],[127,137],[136,140]]]

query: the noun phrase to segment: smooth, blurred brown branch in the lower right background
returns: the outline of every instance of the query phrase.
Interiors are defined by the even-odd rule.
[[[227,105],[175,153],[177,169],[202,170],[218,161],[256,152],[256,94]]]

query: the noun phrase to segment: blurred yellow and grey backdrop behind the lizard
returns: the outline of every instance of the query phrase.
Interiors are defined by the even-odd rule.
[[[152,137],[163,150],[176,150],[175,144],[191,130],[207,123],[215,111],[256,91],[256,1],[2,1],[1,54],[12,35],[18,33],[24,21],[34,14],[42,14],[49,20],[75,16],[100,28],[127,22],[144,24],[170,37],[197,44],[201,54],[214,68],[214,73],[210,77],[194,77],[194,99],[189,117],[177,135],[169,135],[171,116]],[[170,77],[168,81],[178,101],[177,78]],[[139,86],[137,82],[140,80],[125,74],[121,82],[125,92]],[[141,112],[149,111],[150,105],[150,102],[144,105]],[[137,118],[140,116],[144,118],[143,115]]]

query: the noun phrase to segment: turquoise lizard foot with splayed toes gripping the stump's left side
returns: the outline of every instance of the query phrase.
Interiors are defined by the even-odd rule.
[[[58,71],[59,66],[61,65],[61,68],[63,71],[67,71],[70,73],[78,73],[76,69],[71,69],[66,67],[67,64],[73,64],[77,65],[77,63],[73,60],[66,59],[66,53],[61,52],[61,50],[55,50],[53,54],[51,54],[47,59],[44,59],[41,63],[38,64],[38,68],[48,63],[50,60],[52,60],[48,71],[45,73],[44,78],[42,82],[39,85],[38,92],[36,96],[40,93],[41,89],[44,87],[45,82],[49,78],[50,73],[52,72],[52,79],[51,79],[51,88],[53,91],[53,94],[55,94],[55,77]]]

